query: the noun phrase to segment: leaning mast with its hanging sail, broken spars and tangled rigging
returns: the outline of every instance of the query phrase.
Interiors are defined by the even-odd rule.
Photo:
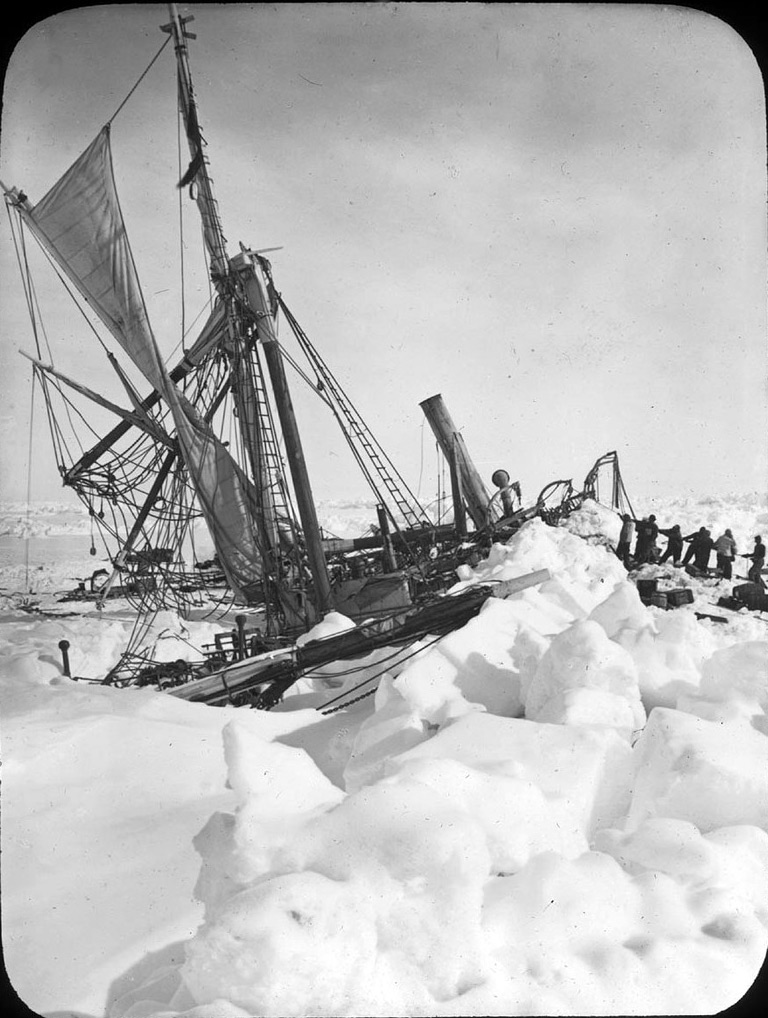
[[[106,347],[127,393],[128,409],[45,363],[40,342],[38,356],[31,359],[46,394],[63,483],[85,502],[98,528],[118,544],[99,605],[117,588],[139,597],[143,610],[169,606],[183,611],[204,579],[218,577],[239,603],[266,606],[268,631],[306,629],[332,604],[329,542],[318,524],[277,339],[278,314],[309,358],[316,391],[336,416],[376,495],[382,529],[391,524],[398,547],[413,555],[419,542],[412,544],[408,535],[423,541],[431,522],[285,305],[267,260],[242,245],[228,256],[189,73],[186,40],[195,37],[185,25],[191,18],[180,17],[174,4],[169,11],[171,19],[162,29],[174,45],[178,107],[189,150],[179,187],[188,188],[197,205],[215,288],[207,321],[175,366],[166,367],[117,200],[110,121],[37,205],[16,188],[4,189],[9,207],[58,274],[101,319],[152,391],[141,398]],[[49,399],[63,397],[68,414],[66,394],[71,390],[120,418],[74,455],[61,438]],[[220,427],[227,414],[236,420],[236,450],[223,433],[216,434],[217,421]],[[201,517],[215,559],[207,564],[210,570],[189,574],[179,570],[178,550],[191,522]],[[120,587],[118,580],[131,568],[133,575],[141,574],[136,583]]]

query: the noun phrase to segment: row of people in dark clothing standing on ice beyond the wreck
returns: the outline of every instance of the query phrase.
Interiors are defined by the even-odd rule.
[[[637,539],[635,542],[635,552],[632,553],[632,542],[637,527]],[[667,547],[661,555],[656,540],[659,534],[667,539]],[[683,556],[683,546],[688,544],[688,549]],[[656,522],[656,517],[651,514],[643,519],[633,519],[628,513],[621,517],[621,532],[619,533],[616,546],[616,555],[621,559],[628,569],[630,564],[642,565],[645,562],[658,562],[659,564],[672,560],[672,564],[684,567],[692,562],[696,569],[705,571],[709,568],[712,552],[717,557],[717,570],[724,579],[730,579],[733,575],[733,562],[737,557],[736,543],[733,534],[726,529],[717,540],[713,540],[712,533],[706,526],[699,527],[694,533],[682,535],[679,524],[663,528]],[[762,578],[763,566],[765,565],[765,545],[763,539],[755,538],[755,547],[751,552],[740,556],[743,559],[750,559],[752,566],[748,578],[754,583],[765,586]]]

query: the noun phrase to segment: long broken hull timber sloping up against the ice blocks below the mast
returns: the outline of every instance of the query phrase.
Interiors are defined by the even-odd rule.
[[[459,629],[480,613],[489,598],[506,598],[549,578],[548,569],[539,569],[500,583],[472,586],[400,615],[398,621],[390,618],[371,622],[322,640],[246,658],[184,685],[173,686],[167,692],[181,699],[212,705],[224,705],[232,702],[234,695],[252,693],[252,705],[270,708],[307,672],[333,661],[363,657],[381,646],[413,643],[430,634]],[[265,688],[257,693],[260,686]]]

